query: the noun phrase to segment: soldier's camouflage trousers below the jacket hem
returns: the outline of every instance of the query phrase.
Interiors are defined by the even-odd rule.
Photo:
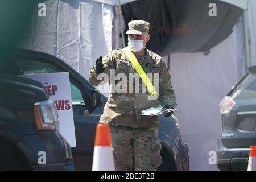
[[[162,163],[158,129],[109,126],[118,171],[154,171]]]

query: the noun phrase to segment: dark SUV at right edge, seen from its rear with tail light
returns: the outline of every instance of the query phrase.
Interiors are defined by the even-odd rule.
[[[217,166],[221,170],[247,170],[250,146],[256,145],[256,65],[248,71],[220,102]]]

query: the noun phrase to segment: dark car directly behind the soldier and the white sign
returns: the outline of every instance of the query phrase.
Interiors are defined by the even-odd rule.
[[[84,77],[64,61],[47,53],[19,49],[13,58],[13,74],[69,72],[76,147],[72,147],[76,170],[91,170],[96,124],[107,100]],[[188,170],[188,147],[181,140],[179,122],[174,118],[159,119],[160,151],[163,163],[159,169]]]

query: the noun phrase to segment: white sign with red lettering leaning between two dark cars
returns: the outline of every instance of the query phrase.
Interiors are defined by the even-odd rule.
[[[60,134],[63,135],[71,147],[76,147],[75,126],[68,72],[40,73],[20,76],[42,82],[42,84],[46,86],[47,93],[51,100],[55,102],[58,110],[60,119]]]

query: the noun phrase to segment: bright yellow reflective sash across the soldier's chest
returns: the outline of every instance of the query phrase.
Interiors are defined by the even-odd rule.
[[[152,97],[158,97],[158,93],[156,92],[152,82],[150,81],[150,78],[148,78],[147,74],[144,72],[137,58],[135,57],[133,52],[131,52],[131,49],[129,47],[125,47],[123,48],[123,50],[125,51],[125,55],[130,60],[131,64],[133,65],[133,67],[141,77],[142,81],[147,86],[148,92],[151,94]]]

